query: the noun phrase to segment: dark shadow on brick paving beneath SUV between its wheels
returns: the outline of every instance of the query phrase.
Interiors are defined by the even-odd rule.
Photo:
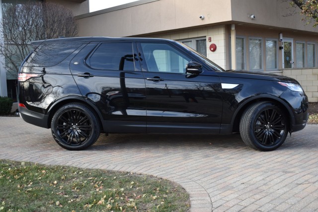
[[[87,150],[168,149],[168,148],[249,148],[239,134],[232,135],[169,135],[169,134],[110,134],[100,135]]]

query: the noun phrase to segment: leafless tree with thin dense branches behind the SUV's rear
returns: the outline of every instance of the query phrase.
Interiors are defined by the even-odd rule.
[[[14,78],[17,78],[19,66],[31,50],[31,41],[75,37],[78,33],[72,10],[60,4],[2,3],[2,10],[0,54],[4,56],[7,73]]]

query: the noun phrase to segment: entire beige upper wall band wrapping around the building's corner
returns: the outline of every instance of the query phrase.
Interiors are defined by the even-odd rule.
[[[104,9],[77,19],[79,36],[125,37],[228,23],[318,33],[318,28],[305,25],[299,14],[287,15],[288,7],[282,0],[156,0]],[[256,18],[252,20],[251,14]],[[205,18],[201,20],[200,15]]]

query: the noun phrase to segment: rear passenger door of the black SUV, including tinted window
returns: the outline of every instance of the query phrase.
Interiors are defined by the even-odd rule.
[[[90,43],[71,61],[81,94],[102,115],[104,130],[146,132],[145,79],[136,43]]]

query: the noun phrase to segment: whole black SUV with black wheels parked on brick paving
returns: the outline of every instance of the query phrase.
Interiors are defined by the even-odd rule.
[[[224,71],[187,46],[151,38],[31,42],[18,76],[24,121],[70,150],[100,132],[231,134],[278,148],[305,128],[308,98],[293,78]],[[193,143],[195,145],[195,143]]]

